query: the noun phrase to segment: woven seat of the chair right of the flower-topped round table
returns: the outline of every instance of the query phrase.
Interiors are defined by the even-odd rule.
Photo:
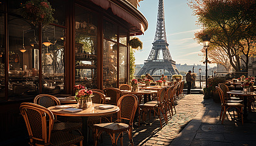
[[[94,124],[93,127],[108,133],[119,133],[129,129],[129,125],[126,123],[98,123]]]

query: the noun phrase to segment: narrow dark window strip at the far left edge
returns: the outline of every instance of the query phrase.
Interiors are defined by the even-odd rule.
[[[5,46],[4,46],[4,14],[0,13],[0,101],[5,97]]]

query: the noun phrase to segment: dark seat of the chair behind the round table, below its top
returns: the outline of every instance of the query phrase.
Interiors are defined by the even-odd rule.
[[[52,131],[71,131],[82,128],[82,123],[69,123],[69,122],[55,122]]]

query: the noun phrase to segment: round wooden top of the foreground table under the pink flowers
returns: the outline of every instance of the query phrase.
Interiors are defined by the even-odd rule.
[[[91,109],[91,107],[90,107],[90,108],[86,108],[86,109],[83,109],[82,111],[74,112],[74,113],[63,111],[63,109],[57,109],[57,108],[55,108],[55,106],[51,106],[48,109],[50,111],[52,111],[52,113],[55,115],[73,116],[73,117],[76,117],[76,116],[86,116],[86,117],[103,116],[103,115],[107,115],[107,114],[113,114],[113,113],[116,113],[119,111],[118,106],[115,106],[115,105],[113,105],[114,108],[110,108],[110,109],[98,109],[97,106],[99,106],[99,105],[104,105],[104,104],[95,103],[94,109]],[[69,106],[73,106],[73,108],[77,108],[77,104],[70,104]]]

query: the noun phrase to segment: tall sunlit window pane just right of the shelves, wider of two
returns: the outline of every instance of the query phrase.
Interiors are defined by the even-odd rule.
[[[103,87],[117,88],[117,44],[103,42]]]

